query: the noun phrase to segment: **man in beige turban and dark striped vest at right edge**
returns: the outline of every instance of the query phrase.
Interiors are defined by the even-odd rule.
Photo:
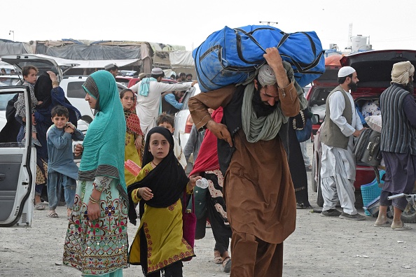
[[[410,194],[416,179],[416,103],[413,88],[415,66],[410,62],[393,64],[391,85],[380,95],[382,132],[380,150],[386,165],[386,178],[380,195],[380,211],[375,226],[390,225],[387,207],[393,206],[391,229],[412,229],[401,221],[408,205],[405,197],[387,200],[392,194]]]

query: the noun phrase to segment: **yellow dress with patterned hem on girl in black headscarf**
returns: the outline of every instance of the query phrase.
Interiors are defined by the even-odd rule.
[[[135,181],[143,179],[152,169],[150,163],[146,164]],[[140,201],[136,196],[136,190],[132,192],[132,199],[134,203]],[[163,269],[186,257],[195,256],[192,247],[182,237],[182,224],[181,199],[166,208],[153,208],[145,204],[139,229],[130,247],[129,263],[141,264],[139,231],[142,228],[147,238],[148,273]]]

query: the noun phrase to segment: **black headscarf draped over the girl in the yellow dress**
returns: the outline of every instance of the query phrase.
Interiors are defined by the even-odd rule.
[[[137,215],[134,210],[134,203],[132,201],[133,190],[139,187],[148,187],[152,190],[153,198],[145,201],[140,201],[139,213],[140,218],[144,213],[144,204],[154,208],[165,208],[174,204],[186,190],[186,185],[189,182],[189,178],[186,176],[185,171],[178,159],[174,155],[174,140],[172,134],[165,127],[154,127],[146,135],[146,145],[144,146],[143,161],[141,164],[145,166],[149,162],[153,161],[153,155],[149,151],[150,137],[152,134],[162,134],[169,142],[169,153],[167,156],[148,173],[143,180],[133,183],[127,187],[127,194],[129,197],[129,220],[132,224],[136,225]]]

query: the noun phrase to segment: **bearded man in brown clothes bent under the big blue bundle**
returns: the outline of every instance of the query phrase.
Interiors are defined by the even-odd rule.
[[[188,101],[197,129],[218,138],[223,196],[233,231],[230,277],[282,276],[283,241],[295,230],[296,197],[286,150],[289,117],[298,115],[303,96],[290,64],[277,48],[267,48],[266,62],[242,85],[197,94]],[[221,123],[208,108],[223,107]]]

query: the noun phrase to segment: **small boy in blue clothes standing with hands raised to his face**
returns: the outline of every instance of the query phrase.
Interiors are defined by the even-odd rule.
[[[71,215],[74,206],[78,166],[74,162],[72,140],[83,141],[84,134],[69,122],[69,111],[64,106],[52,109],[53,125],[46,133],[48,142],[48,201],[49,218],[58,218],[55,208],[60,201],[61,190],[64,187],[67,217]]]

